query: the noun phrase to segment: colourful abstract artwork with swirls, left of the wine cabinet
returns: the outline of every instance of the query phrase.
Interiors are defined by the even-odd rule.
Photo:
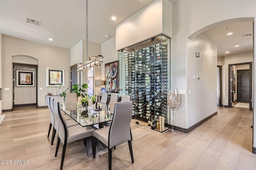
[[[118,93],[118,61],[105,64],[105,82],[107,92]]]

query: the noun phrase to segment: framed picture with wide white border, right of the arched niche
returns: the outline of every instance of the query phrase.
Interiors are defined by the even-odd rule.
[[[64,69],[46,68],[46,87],[64,86]]]

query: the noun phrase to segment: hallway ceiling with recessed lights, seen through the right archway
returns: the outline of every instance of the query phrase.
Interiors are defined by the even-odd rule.
[[[227,35],[230,32],[233,34]],[[249,33],[253,33],[252,22],[229,22],[204,32],[217,46],[218,57],[253,51],[253,35],[242,37]],[[240,46],[234,47],[235,45]],[[226,51],[230,53],[225,53]]]

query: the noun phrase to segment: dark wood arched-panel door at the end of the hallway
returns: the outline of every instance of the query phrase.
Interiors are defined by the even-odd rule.
[[[250,101],[250,70],[238,70],[237,101],[249,103]]]

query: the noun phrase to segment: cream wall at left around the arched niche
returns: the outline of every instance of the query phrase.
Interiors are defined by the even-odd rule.
[[[70,49],[35,43],[18,39],[8,35],[2,35],[2,86],[10,88],[3,92],[2,109],[12,109],[12,56],[27,55],[38,59],[38,106],[44,106],[47,93],[58,91],[57,87],[46,87],[46,67],[65,70],[65,87],[70,86]],[[43,90],[39,90],[42,87]]]

